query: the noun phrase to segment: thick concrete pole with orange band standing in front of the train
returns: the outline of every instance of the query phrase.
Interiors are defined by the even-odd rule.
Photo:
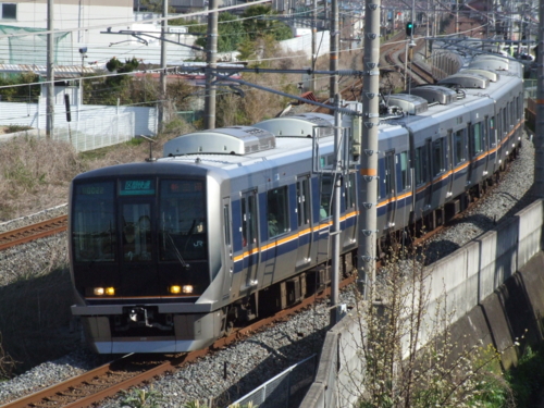
[[[544,1],[544,0],[541,0]],[[358,286],[368,300],[375,282],[378,125],[380,92],[380,0],[367,0],[364,15],[364,55],[362,66],[361,201],[359,202]]]

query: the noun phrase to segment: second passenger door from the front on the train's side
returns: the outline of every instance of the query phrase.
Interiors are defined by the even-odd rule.
[[[297,268],[310,262],[311,250],[311,195],[310,175],[306,174],[297,180],[297,227],[298,227],[298,251]]]

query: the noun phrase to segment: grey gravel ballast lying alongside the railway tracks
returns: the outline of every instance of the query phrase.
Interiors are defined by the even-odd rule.
[[[535,198],[530,194],[533,172],[534,148],[532,141],[524,137],[518,159],[510,164],[509,173],[502,176],[500,184],[492,187],[491,193],[452,227],[435,236],[429,244],[429,256],[440,259],[453,252],[533,202]],[[50,243],[44,245],[44,250],[50,249]],[[25,250],[35,254],[38,248],[20,248],[20,256],[25,257]],[[0,254],[0,270],[5,270],[3,262],[7,260],[13,263],[14,257],[16,255],[4,257]],[[1,280],[2,277],[0,282]],[[354,299],[351,292],[341,295],[341,301],[348,306],[353,305]],[[323,302],[298,313],[288,322],[267,329],[247,341],[158,379],[152,384],[153,390],[165,399],[162,407],[181,407],[187,401],[202,401],[210,397],[234,401],[294,363],[319,354],[327,324],[329,310],[326,302]],[[36,367],[11,381],[0,383],[0,405],[83,372],[95,363],[94,356],[78,349],[60,360]],[[113,399],[101,405],[103,408],[120,406],[121,401]]]

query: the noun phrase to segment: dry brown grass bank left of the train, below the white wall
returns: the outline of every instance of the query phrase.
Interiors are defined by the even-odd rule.
[[[190,127],[185,126],[187,129]],[[160,157],[165,140],[183,132],[162,135],[153,144]],[[17,137],[0,145],[0,221],[32,214],[67,202],[70,182],[77,174],[107,165],[141,161],[147,143],[132,143],[78,154],[65,143]]]

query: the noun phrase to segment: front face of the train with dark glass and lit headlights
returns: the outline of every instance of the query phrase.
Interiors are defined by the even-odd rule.
[[[72,187],[72,312],[99,354],[187,351],[221,333],[224,317],[210,301],[221,290],[211,273],[221,259],[209,251],[220,247],[222,232],[209,223],[219,205],[207,206],[203,174],[147,170]]]

